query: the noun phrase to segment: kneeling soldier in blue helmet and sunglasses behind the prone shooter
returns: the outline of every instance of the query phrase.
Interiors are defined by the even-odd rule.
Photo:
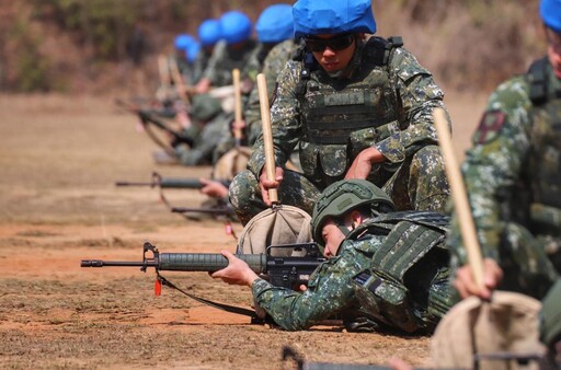
[[[271,108],[276,178],[263,171],[261,137],[230,186],[242,223],[271,205],[268,188],[311,213],[342,178],[371,181],[400,210],[443,211],[449,188],[432,112],[444,94],[431,72],[400,37],[366,37],[376,32],[370,0],[299,0],[293,15],[305,48],[278,77]],[[304,175],[283,169],[296,146]]]

